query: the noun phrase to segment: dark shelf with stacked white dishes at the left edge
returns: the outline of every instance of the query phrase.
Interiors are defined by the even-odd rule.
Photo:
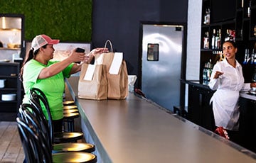
[[[21,81],[18,79],[20,64],[0,62],[0,112],[16,113],[21,104]]]

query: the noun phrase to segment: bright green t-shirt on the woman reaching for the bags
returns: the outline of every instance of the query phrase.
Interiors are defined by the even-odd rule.
[[[42,64],[36,60],[28,61],[23,68],[23,87],[25,96],[23,103],[29,103],[30,89],[35,87],[41,89],[50,106],[50,113],[53,120],[59,120],[63,118],[63,92],[65,90],[65,77],[70,77],[70,70],[73,67],[73,63],[63,69],[62,72],[55,74],[53,77],[46,79],[38,79],[38,75],[45,67],[50,67],[57,61],[49,61],[47,65]],[[43,107],[43,113],[48,119],[46,108]]]

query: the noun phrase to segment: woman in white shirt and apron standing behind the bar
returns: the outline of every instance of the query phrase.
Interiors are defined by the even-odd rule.
[[[233,41],[228,40],[223,43],[225,59],[214,65],[209,83],[210,89],[217,90],[210,99],[210,103],[213,104],[215,126],[227,131],[228,137],[234,142],[240,140],[238,134],[239,92],[256,86],[255,83],[244,83],[242,66],[235,60],[237,51],[238,48]]]

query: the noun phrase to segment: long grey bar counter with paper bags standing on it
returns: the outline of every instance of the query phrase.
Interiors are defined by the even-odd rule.
[[[255,153],[134,94],[125,100],[79,99],[78,79],[66,82],[98,162],[256,162]]]

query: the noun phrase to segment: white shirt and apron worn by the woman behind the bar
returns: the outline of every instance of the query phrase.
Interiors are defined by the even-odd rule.
[[[250,90],[250,83],[244,83],[242,66],[237,60],[235,62],[235,68],[227,60],[217,62],[208,84],[210,89],[217,90],[210,99],[210,103],[213,103],[215,125],[227,130],[238,130],[239,92]],[[213,79],[216,71],[223,72],[223,74],[218,79]]]

